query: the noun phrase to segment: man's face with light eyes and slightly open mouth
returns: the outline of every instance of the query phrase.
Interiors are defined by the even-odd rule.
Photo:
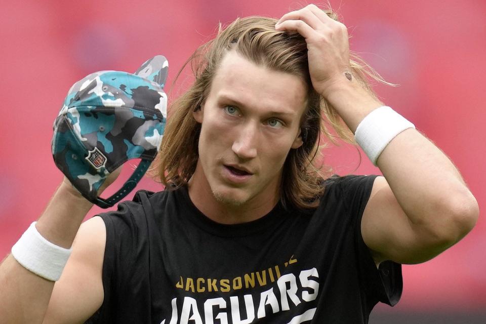
[[[207,100],[194,112],[201,123],[195,175],[204,173],[219,203],[276,201],[287,154],[302,145],[305,103],[298,76],[258,66],[235,51],[225,55]]]

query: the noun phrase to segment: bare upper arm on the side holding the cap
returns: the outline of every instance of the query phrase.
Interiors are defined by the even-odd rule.
[[[106,227],[93,217],[79,228],[72,253],[54,285],[44,323],[82,323],[103,302],[102,269]]]

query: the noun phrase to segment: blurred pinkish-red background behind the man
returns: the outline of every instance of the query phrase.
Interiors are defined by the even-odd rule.
[[[135,71],[163,54],[170,62],[166,90],[171,90],[183,62],[210,39],[219,21],[279,18],[303,5],[289,0],[2,1],[0,255],[41,214],[62,180],[51,155],[52,123],[74,82],[97,70]],[[351,50],[399,85],[377,86],[381,99],[451,157],[482,209],[486,2],[342,0],[331,5],[348,26]],[[180,91],[172,90],[172,97]],[[359,163],[353,147],[331,148],[325,155],[340,174],[379,173],[362,153]],[[130,168],[125,169],[128,177]],[[138,188],[160,186],[144,179]],[[98,212],[95,208],[90,216]],[[379,306],[377,312],[475,313],[484,320],[478,322],[486,322],[485,251],[486,220],[480,217],[450,250],[424,264],[403,266],[400,303],[394,309]]]

